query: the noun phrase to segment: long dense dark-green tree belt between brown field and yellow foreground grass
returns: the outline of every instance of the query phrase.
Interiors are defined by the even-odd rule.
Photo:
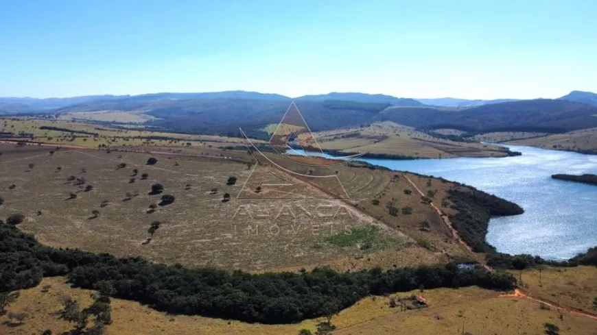
[[[220,269],[187,269],[152,264],[142,258],[45,247],[13,225],[0,224],[0,292],[30,288],[44,276],[67,275],[77,287],[109,284],[113,297],[131,299],[179,314],[261,323],[291,323],[321,317],[333,301],[347,308],[367,295],[415,288],[463,287],[507,290],[507,273],[447,266],[338,273],[315,269],[302,273],[250,274]],[[329,304],[328,304],[329,305]]]

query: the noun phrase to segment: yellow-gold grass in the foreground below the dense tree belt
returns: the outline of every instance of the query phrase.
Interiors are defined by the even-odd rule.
[[[51,286],[42,293],[44,286]],[[0,334],[41,334],[50,329],[60,334],[72,325],[59,319],[62,309],[60,297],[68,295],[80,301],[81,306],[91,303],[91,291],[70,288],[62,277],[45,278],[35,288],[21,290],[19,299],[10,304],[8,312],[27,311],[29,317],[19,324],[0,317]],[[390,308],[390,297],[422,295],[428,308],[401,312]],[[539,303],[524,298],[499,297],[499,293],[476,287],[435,290],[415,290],[390,297],[368,297],[333,317],[337,327],[333,334],[543,334],[543,324],[553,323],[561,334],[594,335],[597,321],[557,310],[541,309]],[[322,319],[305,320],[293,325],[261,325],[169,315],[141,306],[133,301],[112,299],[113,323],[108,335],[137,334],[204,334],[204,335],[296,335],[301,329],[316,330]]]

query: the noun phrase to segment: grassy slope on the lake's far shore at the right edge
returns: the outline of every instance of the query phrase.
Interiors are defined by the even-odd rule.
[[[526,140],[505,142],[511,145],[530,145],[552,150],[592,151],[597,153],[597,128],[576,130]]]

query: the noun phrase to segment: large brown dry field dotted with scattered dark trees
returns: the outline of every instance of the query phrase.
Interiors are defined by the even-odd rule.
[[[391,171],[329,166],[338,171],[338,179],[351,195],[346,202],[330,199],[325,190],[305,183],[295,183],[282,193],[264,188],[260,196],[278,192],[271,193],[278,200],[264,201],[236,199],[252,171],[246,164],[250,156],[244,151],[220,150],[218,155],[213,148],[207,156],[198,154],[196,147],[151,155],[83,149],[50,154],[50,150],[54,148],[0,145],[0,196],[5,199],[0,217],[25,214],[20,229],[54,247],[247,271],[311,269],[324,264],[342,270],[388,269],[470,256],[431,206],[421,202],[420,195],[403,192],[410,188],[406,179]],[[146,165],[151,156],[158,163]],[[119,164],[126,166],[119,168]],[[148,173],[147,179],[141,179],[143,173]],[[84,184],[75,185],[77,180],[68,180],[70,176],[84,179]],[[231,176],[237,182],[227,185]],[[437,190],[437,203],[451,185],[414,175],[411,179],[425,192]],[[165,189],[150,195],[155,183]],[[10,189],[12,184],[15,187]],[[86,191],[86,186],[92,189]],[[252,187],[247,191],[257,195]],[[229,201],[222,201],[224,193],[230,194]],[[305,197],[281,200],[283,193]],[[176,200],[159,206],[162,195],[174,195]],[[374,200],[379,204],[373,205]],[[391,216],[386,207],[390,202],[400,209],[412,208],[412,214]],[[97,217],[94,210],[99,211]],[[325,214],[320,217],[315,214],[318,211]],[[148,239],[152,221],[162,224]],[[423,222],[428,224],[425,230]],[[372,226],[377,227],[375,232],[355,234],[349,242],[338,243],[340,237],[334,237],[347,234],[347,229]]]

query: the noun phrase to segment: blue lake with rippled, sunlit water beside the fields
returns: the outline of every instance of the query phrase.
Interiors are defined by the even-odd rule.
[[[551,178],[597,174],[597,156],[508,145],[522,156],[362,160],[389,169],[444,177],[514,201],[524,214],[493,218],[487,241],[505,253],[563,260],[597,246],[597,186]]]

